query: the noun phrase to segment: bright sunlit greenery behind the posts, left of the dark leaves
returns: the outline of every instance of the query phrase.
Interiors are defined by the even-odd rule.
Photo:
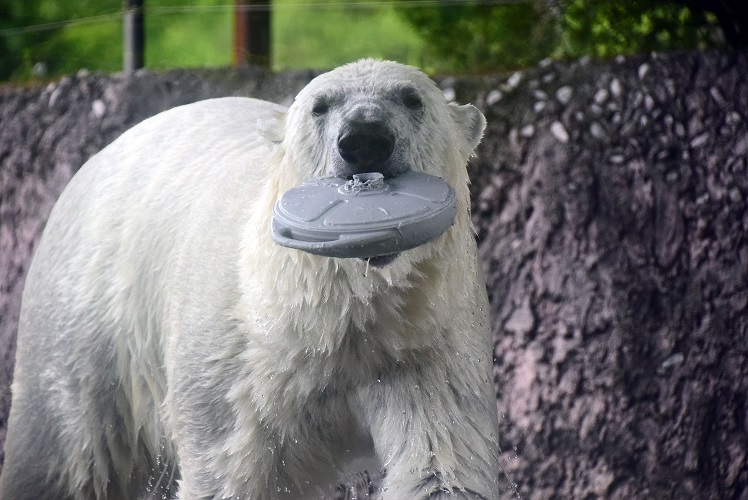
[[[225,66],[232,62],[233,2],[145,0],[149,68]],[[273,68],[331,68],[361,57],[421,65],[423,40],[388,5],[354,0],[272,0]],[[38,62],[48,76],[80,68],[122,68],[122,0],[0,0],[0,30],[75,20],[54,29],[3,35],[0,80],[28,80]],[[99,17],[112,14],[110,17]]]

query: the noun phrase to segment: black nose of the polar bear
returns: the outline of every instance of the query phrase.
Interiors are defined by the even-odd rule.
[[[346,163],[365,167],[386,161],[395,149],[395,136],[381,122],[348,124],[338,137],[338,151]]]

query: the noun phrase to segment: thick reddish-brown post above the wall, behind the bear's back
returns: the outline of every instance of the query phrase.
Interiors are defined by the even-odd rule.
[[[234,65],[270,67],[270,0],[234,0]]]

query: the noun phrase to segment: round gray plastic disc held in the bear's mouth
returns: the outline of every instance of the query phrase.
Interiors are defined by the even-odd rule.
[[[272,237],[316,255],[379,257],[433,240],[454,223],[456,211],[455,191],[441,177],[326,177],[283,194],[273,210]]]

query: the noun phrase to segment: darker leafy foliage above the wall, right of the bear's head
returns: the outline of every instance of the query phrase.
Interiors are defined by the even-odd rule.
[[[675,0],[467,1],[399,12],[427,42],[426,66],[450,73],[722,43],[714,16]]]

